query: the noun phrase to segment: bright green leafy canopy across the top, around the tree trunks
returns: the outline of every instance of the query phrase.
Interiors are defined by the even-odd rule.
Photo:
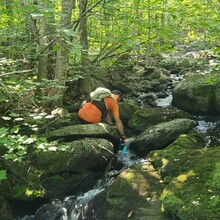
[[[97,2],[92,0],[87,8]],[[87,14],[89,60],[111,65],[125,51],[140,54],[169,52],[178,43],[195,40],[217,45],[219,41],[218,1],[104,1]],[[47,25],[47,38],[54,43],[49,54],[54,56],[59,48],[58,36],[68,44],[70,65],[78,65],[81,59],[79,9],[74,8],[71,27],[59,27],[61,2],[41,1],[35,5],[19,1],[0,3],[0,55],[25,57],[34,65],[41,53],[36,53],[37,41],[26,27],[33,19],[43,15]],[[206,19],[206,18],[209,19]],[[37,24],[36,28],[39,28]],[[11,34],[13,33],[13,34]],[[101,53],[101,54],[100,54]],[[101,56],[100,56],[101,55]],[[98,58],[97,58],[98,56]],[[72,73],[72,68],[69,71]]]

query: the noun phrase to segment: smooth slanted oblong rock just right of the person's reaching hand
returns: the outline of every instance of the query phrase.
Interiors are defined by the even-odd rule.
[[[130,149],[138,155],[146,156],[152,150],[165,148],[179,135],[187,133],[196,125],[197,122],[191,119],[175,119],[159,123],[138,135],[130,143]]]

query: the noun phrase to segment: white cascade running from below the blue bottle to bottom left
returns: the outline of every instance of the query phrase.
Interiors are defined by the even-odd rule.
[[[130,140],[131,141],[131,140]],[[72,195],[64,198],[63,200],[55,200],[51,204],[47,204],[46,209],[41,208],[42,220],[78,220],[83,212],[84,207],[92,200],[97,194],[101,193],[105,188],[110,185],[115,177],[125,168],[128,168],[137,163],[148,163],[147,160],[137,157],[134,153],[120,150],[117,155],[117,160],[122,164],[122,169],[111,170],[106,172],[104,177],[96,183],[93,189],[86,193],[79,195]],[[49,210],[49,211],[48,211]],[[43,213],[44,212],[44,213]],[[16,220],[33,220],[36,216],[23,216],[16,218]],[[39,219],[39,218],[37,218]],[[92,219],[92,218],[88,218]]]

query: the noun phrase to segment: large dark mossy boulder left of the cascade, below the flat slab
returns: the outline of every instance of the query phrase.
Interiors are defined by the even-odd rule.
[[[12,201],[34,201],[86,191],[114,156],[112,143],[105,139],[73,141],[62,147],[38,149],[21,163],[2,162],[7,179],[1,182],[0,195]]]

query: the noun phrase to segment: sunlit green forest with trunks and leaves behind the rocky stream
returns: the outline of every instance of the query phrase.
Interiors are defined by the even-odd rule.
[[[23,118],[15,109],[23,96],[34,96],[36,107],[61,106],[69,82],[80,82],[90,67],[119,65],[127,55],[127,62],[157,65],[155,57],[198,42],[220,56],[219,0],[3,0],[0,12],[5,159],[19,160],[26,145],[45,141],[14,136],[21,130]],[[25,126],[36,129],[34,123]]]

